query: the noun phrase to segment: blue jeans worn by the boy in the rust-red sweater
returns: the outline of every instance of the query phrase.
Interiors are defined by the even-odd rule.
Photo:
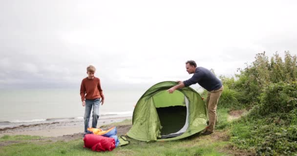
[[[89,120],[91,115],[91,110],[93,107],[93,121],[92,128],[97,127],[97,121],[99,118],[99,105],[101,102],[101,98],[96,99],[85,99],[85,134],[87,133],[87,128],[89,127]]]

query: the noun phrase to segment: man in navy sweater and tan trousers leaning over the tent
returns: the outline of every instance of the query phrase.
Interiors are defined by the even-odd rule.
[[[208,69],[197,67],[196,62],[189,60],[186,62],[186,69],[189,74],[194,74],[192,78],[185,81],[177,81],[179,84],[167,90],[173,93],[176,89],[188,87],[192,84],[198,83],[201,87],[208,91],[206,99],[206,107],[209,117],[209,125],[202,135],[210,135],[213,133],[216,120],[216,105],[223,92],[222,82],[215,77],[215,75]]]

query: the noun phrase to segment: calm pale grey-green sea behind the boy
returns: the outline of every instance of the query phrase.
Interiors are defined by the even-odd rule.
[[[132,117],[144,91],[104,91],[100,119]],[[83,120],[79,89],[26,89],[0,91],[0,128],[20,124]]]

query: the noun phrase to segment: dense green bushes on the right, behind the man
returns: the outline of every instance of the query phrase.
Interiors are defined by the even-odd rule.
[[[231,125],[233,145],[258,156],[297,156],[297,56],[260,53],[239,72],[226,82],[253,108]]]

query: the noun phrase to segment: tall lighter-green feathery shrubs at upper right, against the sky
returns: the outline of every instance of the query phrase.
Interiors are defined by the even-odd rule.
[[[284,61],[276,53],[270,60],[265,52],[259,53],[255,61],[244,69],[238,69],[232,89],[245,95],[238,99],[241,103],[254,105],[260,101],[259,96],[271,83],[292,83],[297,81],[297,56],[285,51]]]

